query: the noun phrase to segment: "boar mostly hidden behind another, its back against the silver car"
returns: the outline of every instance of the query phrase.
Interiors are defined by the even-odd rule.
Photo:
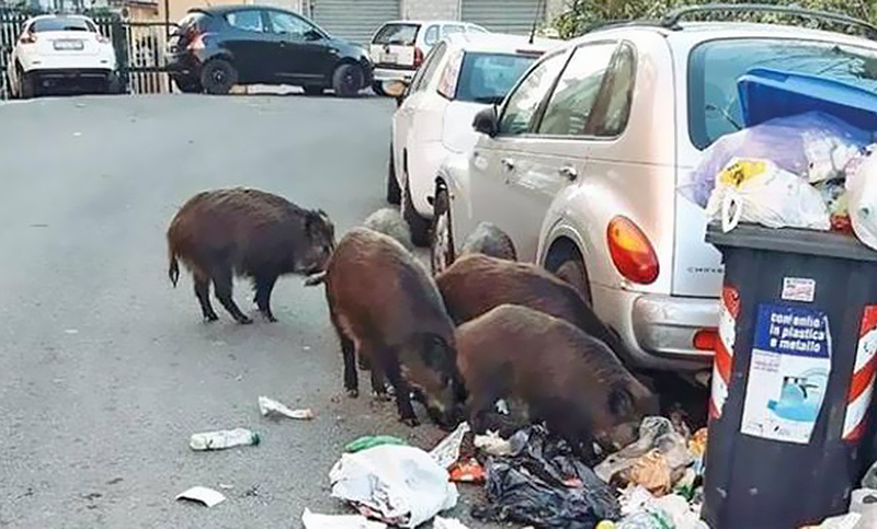
[[[521,304],[566,320],[622,358],[629,357],[576,288],[536,265],[471,254],[455,261],[435,281],[457,325],[502,303]]]

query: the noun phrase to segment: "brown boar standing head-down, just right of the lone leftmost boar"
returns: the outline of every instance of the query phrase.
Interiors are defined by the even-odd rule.
[[[354,228],[339,241],[324,283],[348,393],[358,396],[358,355],[367,358],[376,394],[386,392],[383,377],[389,380],[402,422],[419,424],[410,402],[413,389],[430,417],[449,426],[458,390],[454,322],[417,257],[390,237]]]

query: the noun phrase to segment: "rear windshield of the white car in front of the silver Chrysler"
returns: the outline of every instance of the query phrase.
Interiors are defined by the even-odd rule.
[[[457,101],[499,103],[521,78],[535,56],[467,53],[463,58]]]

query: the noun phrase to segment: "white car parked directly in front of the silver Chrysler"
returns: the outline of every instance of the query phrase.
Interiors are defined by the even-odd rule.
[[[557,41],[458,34],[440,42],[412,79],[392,116],[387,200],[402,205],[414,244],[429,245],[432,192],[445,157],[466,152],[478,134],[475,115],[505,96]]]

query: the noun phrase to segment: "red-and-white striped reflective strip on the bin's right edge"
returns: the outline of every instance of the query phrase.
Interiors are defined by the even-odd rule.
[[[877,306],[866,306],[862,312],[856,345],[856,363],[846,393],[843,417],[843,440],[857,441],[865,433],[865,418],[874,394],[877,367]]]

